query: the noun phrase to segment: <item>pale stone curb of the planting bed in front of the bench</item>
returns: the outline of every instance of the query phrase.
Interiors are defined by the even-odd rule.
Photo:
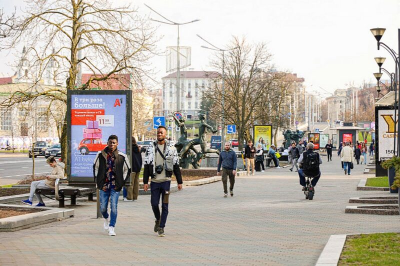
[[[19,205],[3,205],[0,207],[15,207],[18,209],[32,209],[32,207],[21,207]],[[43,225],[54,221],[60,221],[69,217],[73,217],[73,209],[60,208],[38,208],[45,211],[30,213],[18,216],[12,216],[0,219],[0,232],[13,232],[37,225]]]

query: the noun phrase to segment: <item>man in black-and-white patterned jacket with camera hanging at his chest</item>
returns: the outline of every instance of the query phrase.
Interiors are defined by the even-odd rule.
[[[159,237],[165,236],[164,227],[168,216],[169,188],[172,173],[178,183],[178,190],[182,189],[182,176],[179,168],[179,157],[171,141],[165,140],[166,128],[157,128],[157,141],[151,142],[144,158],[143,190],[148,190],[148,178],[151,178],[151,208],[155,217],[154,232]],[[159,199],[161,197],[161,213]]]

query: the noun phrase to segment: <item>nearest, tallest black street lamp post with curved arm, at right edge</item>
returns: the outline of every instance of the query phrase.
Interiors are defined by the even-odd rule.
[[[397,89],[397,82],[400,80],[400,76],[397,76],[398,74],[400,74],[400,71],[399,71],[400,70],[400,58],[398,56],[400,54],[400,28],[397,29],[398,53],[396,53],[392,48],[390,48],[385,43],[380,41],[385,30],[386,30],[385,28],[371,28],[370,29],[370,31],[372,32],[373,36],[376,39],[377,49],[379,50],[379,47],[382,46],[386,51],[389,52],[389,54],[391,55],[391,57],[394,60],[394,63],[395,63],[394,90],[395,90],[395,94],[397,94],[397,92],[400,92],[400,89]],[[394,101],[394,109],[396,109],[396,100]],[[400,113],[400,104],[397,104],[397,113]],[[398,120],[398,119],[394,115],[394,125],[396,124],[396,120]],[[400,123],[397,123],[397,132],[400,132]],[[396,138],[395,133],[394,133],[394,138]],[[394,143],[395,143],[395,141],[394,141]],[[397,156],[398,156],[398,152],[399,152],[399,145],[400,145],[400,134],[397,134],[397,153],[395,153]],[[396,147],[395,144],[394,144],[394,147]]]

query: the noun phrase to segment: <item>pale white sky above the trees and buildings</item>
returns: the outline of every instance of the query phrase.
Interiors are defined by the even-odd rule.
[[[394,61],[384,50],[376,49],[370,28],[384,27],[382,42],[398,50],[397,28],[400,28],[400,0],[110,0],[114,6],[130,3],[138,12],[162,20],[143,3],[170,20],[186,22],[179,28],[180,45],[191,46],[194,70],[213,70],[208,62],[212,51],[196,34],[215,46],[224,48],[232,36],[244,36],[250,43],[265,42],[277,70],[287,70],[305,79],[310,92],[326,96],[335,89],[372,83],[378,71],[373,57],[387,60],[383,66],[394,72]],[[0,0],[9,11],[22,6],[22,0]],[[176,45],[176,26],[152,22],[158,26],[159,50]],[[0,72],[13,73],[7,62],[15,58],[0,53]],[[165,72],[165,57],[151,59],[160,81]],[[187,70],[188,70],[187,68]],[[382,79],[388,79],[385,75]],[[159,84],[151,84],[157,87]]]

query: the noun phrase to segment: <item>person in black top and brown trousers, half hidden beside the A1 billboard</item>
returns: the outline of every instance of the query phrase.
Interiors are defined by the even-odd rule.
[[[126,187],[124,201],[137,201],[139,195],[139,174],[141,170],[141,152],[136,139],[132,136],[132,172],[130,173],[131,184]]]

